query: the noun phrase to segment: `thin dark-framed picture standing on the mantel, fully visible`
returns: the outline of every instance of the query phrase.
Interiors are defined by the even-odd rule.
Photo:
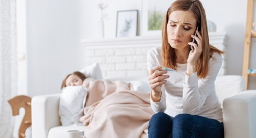
[[[138,29],[138,10],[117,11],[116,37],[135,37]]]

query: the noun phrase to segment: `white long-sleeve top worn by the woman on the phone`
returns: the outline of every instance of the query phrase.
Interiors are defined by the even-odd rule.
[[[158,113],[175,117],[178,114],[191,114],[208,117],[223,122],[221,103],[215,91],[215,80],[222,65],[222,55],[214,53],[209,60],[209,73],[206,78],[197,77],[197,72],[188,76],[187,64],[178,63],[178,71],[168,71],[167,83],[162,86],[160,102],[153,102],[151,107]],[[162,65],[161,48],[152,48],[147,55],[148,70]]]

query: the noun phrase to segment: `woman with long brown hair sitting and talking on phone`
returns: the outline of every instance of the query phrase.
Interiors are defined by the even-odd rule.
[[[221,54],[209,44],[202,3],[175,1],[163,21],[162,47],[149,50],[147,57],[156,113],[149,122],[149,137],[224,137],[214,84]]]

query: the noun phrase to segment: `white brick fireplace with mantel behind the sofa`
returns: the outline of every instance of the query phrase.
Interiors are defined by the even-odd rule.
[[[212,45],[225,50],[224,32],[211,32],[209,37]],[[100,63],[105,78],[147,76],[147,52],[150,48],[161,47],[160,36],[84,39],[81,42],[86,47],[87,65]],[[224,74],[225,62],[223,62],[219,75]]]

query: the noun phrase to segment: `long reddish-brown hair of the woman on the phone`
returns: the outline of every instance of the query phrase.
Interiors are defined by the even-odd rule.
[[[167,10],[166,17],[163,19],[162,25],[162,61],[163,66],[167,68],[177,69],[176,54],[174,48],[170,47],[168,43],[167,24],[169,21],[169,15],[176,10],[190,11],[197,19],[197,25],[202,36],[202,55],[197,62],[197,76],[199,78],[205,78],[209,71],[209,60],[214,52],[224,54],[223,51],[210,45],[206,15],[202,3],[199,0],[177,0],[170,5]]]

